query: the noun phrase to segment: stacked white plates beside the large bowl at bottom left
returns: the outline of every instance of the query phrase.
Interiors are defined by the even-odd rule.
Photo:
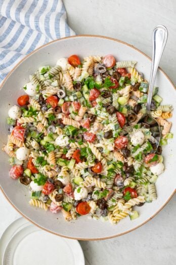
[[[24,218],[14,221],[0,240],[2,265],[84,265],[76,240],[61,238],[32,225]]]

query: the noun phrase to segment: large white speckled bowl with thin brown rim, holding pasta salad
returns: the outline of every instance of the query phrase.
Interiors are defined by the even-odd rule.
[[[149,80],[151,59],[133,46],[115,39],[101,36],[76,36],[43,45],[20,61],[2,84],[0,91],[1,146],[7,142],[8,126],[6,118],[8,109],[16,104],[17,97],[23,93],[20,88],[28,81],[28,76],[35,72],[38,67],[46,64],[54,65],[58,58],[68,57],[71,54],[78,54],[81,57],[113,54],[117,60],[137,60],[137,69],[143,72],[145,78]],[[176,94],[174,86],[161,69],[157,73],[156,85],[159,86],[159,94],[163,97],[162,103],[174,106],[173,117],[175,117]],[[175,118],[173,119],[175,120]],[[172,131],[175,131],[175,126],[176,122],[173,122]],[[82,216],[76,221],[65,222],[62,214],[52,214],[50,211],[45,212],[29,206],[28,189],[9,177],[8,156],[2,151],[0,154],[0,185],[12,206],[21,215],[42,229],[72,239],[100,240],[112,238],[128,233],[149,221],[174,194],[175,157],[173,151],[175,150],[175,143],[176,138],[173,138],[163,148],[165,172],[157,180],[157,200],[151,204],[146,203],[143,207],[138,207],[140,217],[134,221],[125,218],[117,225],[111,225],[109,222],[90,220],[86,216]]]

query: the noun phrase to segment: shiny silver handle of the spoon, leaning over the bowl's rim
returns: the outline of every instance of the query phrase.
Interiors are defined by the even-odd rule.
[[[147,112],[150,113],[151,110],[151,102],[153,95],[153,87],[155,84],[156,73],[158,70],[158,65],[167,41],[167,28],[165,26],[159,25],[154,28],[152,35],[152,67],[150,73],[150,83],[149,83],[149,91],[147,97]]]

